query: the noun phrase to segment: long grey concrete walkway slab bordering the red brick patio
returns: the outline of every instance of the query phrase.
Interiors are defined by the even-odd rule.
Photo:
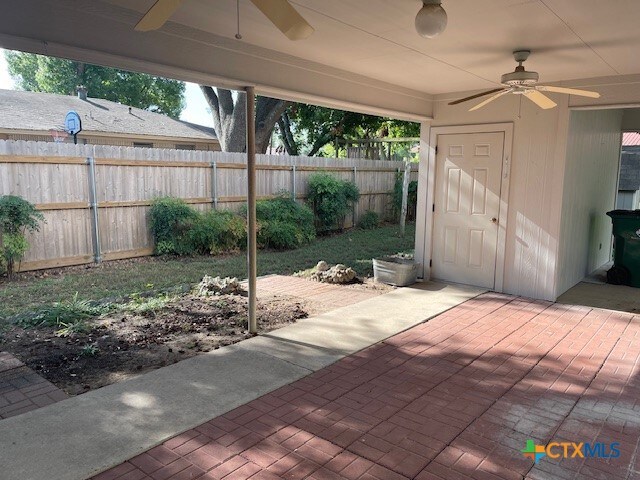
[[[86,479],[480,293],[398,289],[3,420],[2,478]]]

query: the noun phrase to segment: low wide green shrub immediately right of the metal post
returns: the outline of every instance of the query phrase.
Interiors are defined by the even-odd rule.
[[[246,207],[242,213],[246,216]],[[285,194],[257,202],[256,220],[260,247],[287,250],[316,238],[313,212]]]

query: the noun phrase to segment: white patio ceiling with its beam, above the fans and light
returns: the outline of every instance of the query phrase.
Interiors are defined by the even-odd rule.
[[[414,120],[433,95],[495,86],[516,48],[533,50],[544,82],[640,73],[636,1],[445,0],[449,25],[431,40],[413,27],[418,0],[292,3],[316,29],[307,40],[287,40],[247,0],[242,41],[234,0],[186,0],[146,34],[133,25],[152,0],[9,0],[0,46]]]

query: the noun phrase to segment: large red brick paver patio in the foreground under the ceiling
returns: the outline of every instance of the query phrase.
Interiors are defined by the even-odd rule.
[[[485,294],[95,478],[640,478],[639,358],[637,316]]]

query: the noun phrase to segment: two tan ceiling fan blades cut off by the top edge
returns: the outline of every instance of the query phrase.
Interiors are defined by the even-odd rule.
[[[139,32],[157,30],[175,13],[184,0],[157,0],[136,24]],[[308,38],[314,29],[288,0],[251,0],[289,40]]]

